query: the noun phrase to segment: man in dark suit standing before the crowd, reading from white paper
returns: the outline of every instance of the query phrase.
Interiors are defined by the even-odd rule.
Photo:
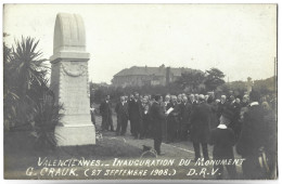
[[[150,108],[150,115],[153,123],[154,148],[157,155],[161,155],[162,128],[166,117],[164,109],[161,107],[161,95],[155,95],[155,102]]]

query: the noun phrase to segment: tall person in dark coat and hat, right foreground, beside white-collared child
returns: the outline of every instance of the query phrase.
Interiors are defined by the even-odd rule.
[[[236,144],[236,152],[245,158],[242,163],[244,179],[259,180],[266,175],[258,157],[266,147],[267,127],[264,120],[264,109],[258,104],[259,93],[249,94],[248,110],[244,114],[242,133]]]

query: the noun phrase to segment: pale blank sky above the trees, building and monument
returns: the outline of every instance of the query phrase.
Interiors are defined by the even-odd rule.
[[[226,80],[274,75],[274,4],[5,4],[4,41],[39,39],[43,57],[53,54],[57,13],[85,22],[89,79],[111,83],[131,66],[217,67]]]

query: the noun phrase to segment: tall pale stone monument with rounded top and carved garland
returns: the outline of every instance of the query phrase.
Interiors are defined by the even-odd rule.
[[[95,144],[90,117],[90,92],[86,30],[81,16],[59,13],[55,19],[51,84],[55,102],[63,104],[61,124],[55,128],[59,146]]]

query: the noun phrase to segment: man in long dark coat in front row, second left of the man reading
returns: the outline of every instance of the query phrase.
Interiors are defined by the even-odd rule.
[[[132,121],[132,134],[134,139],[140,137],[142,130],[142,103],[139,98],[139,93],[134,94],[134,98],[130,105],[130,121]]]

